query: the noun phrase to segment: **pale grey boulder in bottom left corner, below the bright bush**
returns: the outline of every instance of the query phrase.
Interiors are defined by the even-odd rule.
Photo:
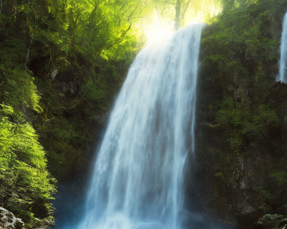
[[[22,229],[24,222],[16,218],[12,212],[0,208],[0,228],[1,229]]]

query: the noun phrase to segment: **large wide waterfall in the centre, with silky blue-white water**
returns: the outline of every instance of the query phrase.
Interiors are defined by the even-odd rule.
[[[78,229],[177,229],[194,153],[202,25],[136,56],[98,151]]]

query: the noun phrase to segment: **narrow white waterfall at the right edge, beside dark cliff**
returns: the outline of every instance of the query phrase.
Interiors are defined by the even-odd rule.
[[[281,46],[280,46],[280,63],[279,63],[279,76],[278,81],[281,80],[284,83],[287,83],[286,78],[286,62],[287,62],[287,13],[283,18],[282,23],[282,37],[281,37]]]

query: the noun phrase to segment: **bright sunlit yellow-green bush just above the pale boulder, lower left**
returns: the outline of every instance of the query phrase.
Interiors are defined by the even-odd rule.
[[[0,196],[1,206],[21,216],[22,212],[40,209],[38,216],[45,216],[44,205],[56,191],[55,179],[46,170],[46,158],[38,135],[11,106],[0,109]],[[11,122],[17,120],[16,123]]]

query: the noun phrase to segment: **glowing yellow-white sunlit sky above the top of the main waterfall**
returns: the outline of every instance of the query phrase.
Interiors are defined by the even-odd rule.
[[[178,2],[181,9],[177,9]],[[208,18],[221,11],[220,1],[213,0],[152,0],[146,3],[146,7],[149,12],[136,22],[138,28],[136,34],[144,36],[148,44],[169,37],[175,29],[185,25],[206,22]]]

